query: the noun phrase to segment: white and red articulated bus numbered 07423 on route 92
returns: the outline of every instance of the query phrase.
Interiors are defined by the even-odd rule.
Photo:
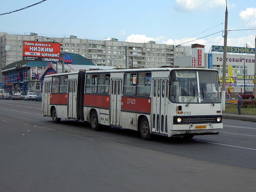
[[[218,71],[205,68],[90,70],[44,77],[42,111],[90,122],[94,131],[115,126],[152,134],[219,134],[223,128]]]

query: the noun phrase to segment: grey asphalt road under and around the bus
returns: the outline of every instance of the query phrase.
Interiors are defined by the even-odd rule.
[[[94,132],[43,117],[41,102],[0,100],[0,191],[255,191],[254,122],[224,119],[219,135]]]

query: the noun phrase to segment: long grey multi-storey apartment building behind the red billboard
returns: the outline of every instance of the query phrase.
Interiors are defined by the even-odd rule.
[[[23,41],[60,43],[61,52],[82,55],[99,66],[116,66],[119,68],[138,67],[156,68],[172,66],[174,58],[191,55],[191,47],[181,45],[119,42],[116,38],[104,41],[69,38],[56,38],[29,35],[10,35],[0,32],[0,58],[2,67],[22,60]]]

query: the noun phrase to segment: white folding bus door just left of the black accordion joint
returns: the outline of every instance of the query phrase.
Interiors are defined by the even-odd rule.
[[[76,79],[68,80],[68,118],[76,118]]]

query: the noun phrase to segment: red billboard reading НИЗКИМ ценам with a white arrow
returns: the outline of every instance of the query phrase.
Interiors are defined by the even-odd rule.
[[[23,41],[23,60],[59,62],[60,43]]]

